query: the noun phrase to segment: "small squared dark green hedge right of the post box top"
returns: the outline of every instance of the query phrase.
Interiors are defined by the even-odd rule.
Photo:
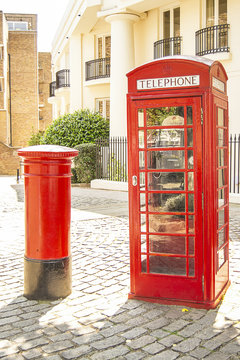
[[[73,181],[77,179],[79,183],[90,183],[96,178],[96,145],[81,144],[75,148],[79,154],[73,160]]]

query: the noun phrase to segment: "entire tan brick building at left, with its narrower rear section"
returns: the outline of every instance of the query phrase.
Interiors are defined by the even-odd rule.
[[[52,118],[51,55],[38,53],[37,15],[0,11],[0,174],[15,174],[16,149]]]

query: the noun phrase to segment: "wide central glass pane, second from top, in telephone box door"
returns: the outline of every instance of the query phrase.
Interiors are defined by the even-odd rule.
[[[154,129],[147,131],[147,147],[183,147],[184,129]]]

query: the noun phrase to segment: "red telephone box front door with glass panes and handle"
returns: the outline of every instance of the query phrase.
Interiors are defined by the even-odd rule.
[[[201,98],[128,111],[129,297],[203,300]]]

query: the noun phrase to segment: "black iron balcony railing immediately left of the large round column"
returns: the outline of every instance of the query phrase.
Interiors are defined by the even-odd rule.
[[[110,58],[102,58],[86,62],[86,80],[110,77],[110,67]]]

